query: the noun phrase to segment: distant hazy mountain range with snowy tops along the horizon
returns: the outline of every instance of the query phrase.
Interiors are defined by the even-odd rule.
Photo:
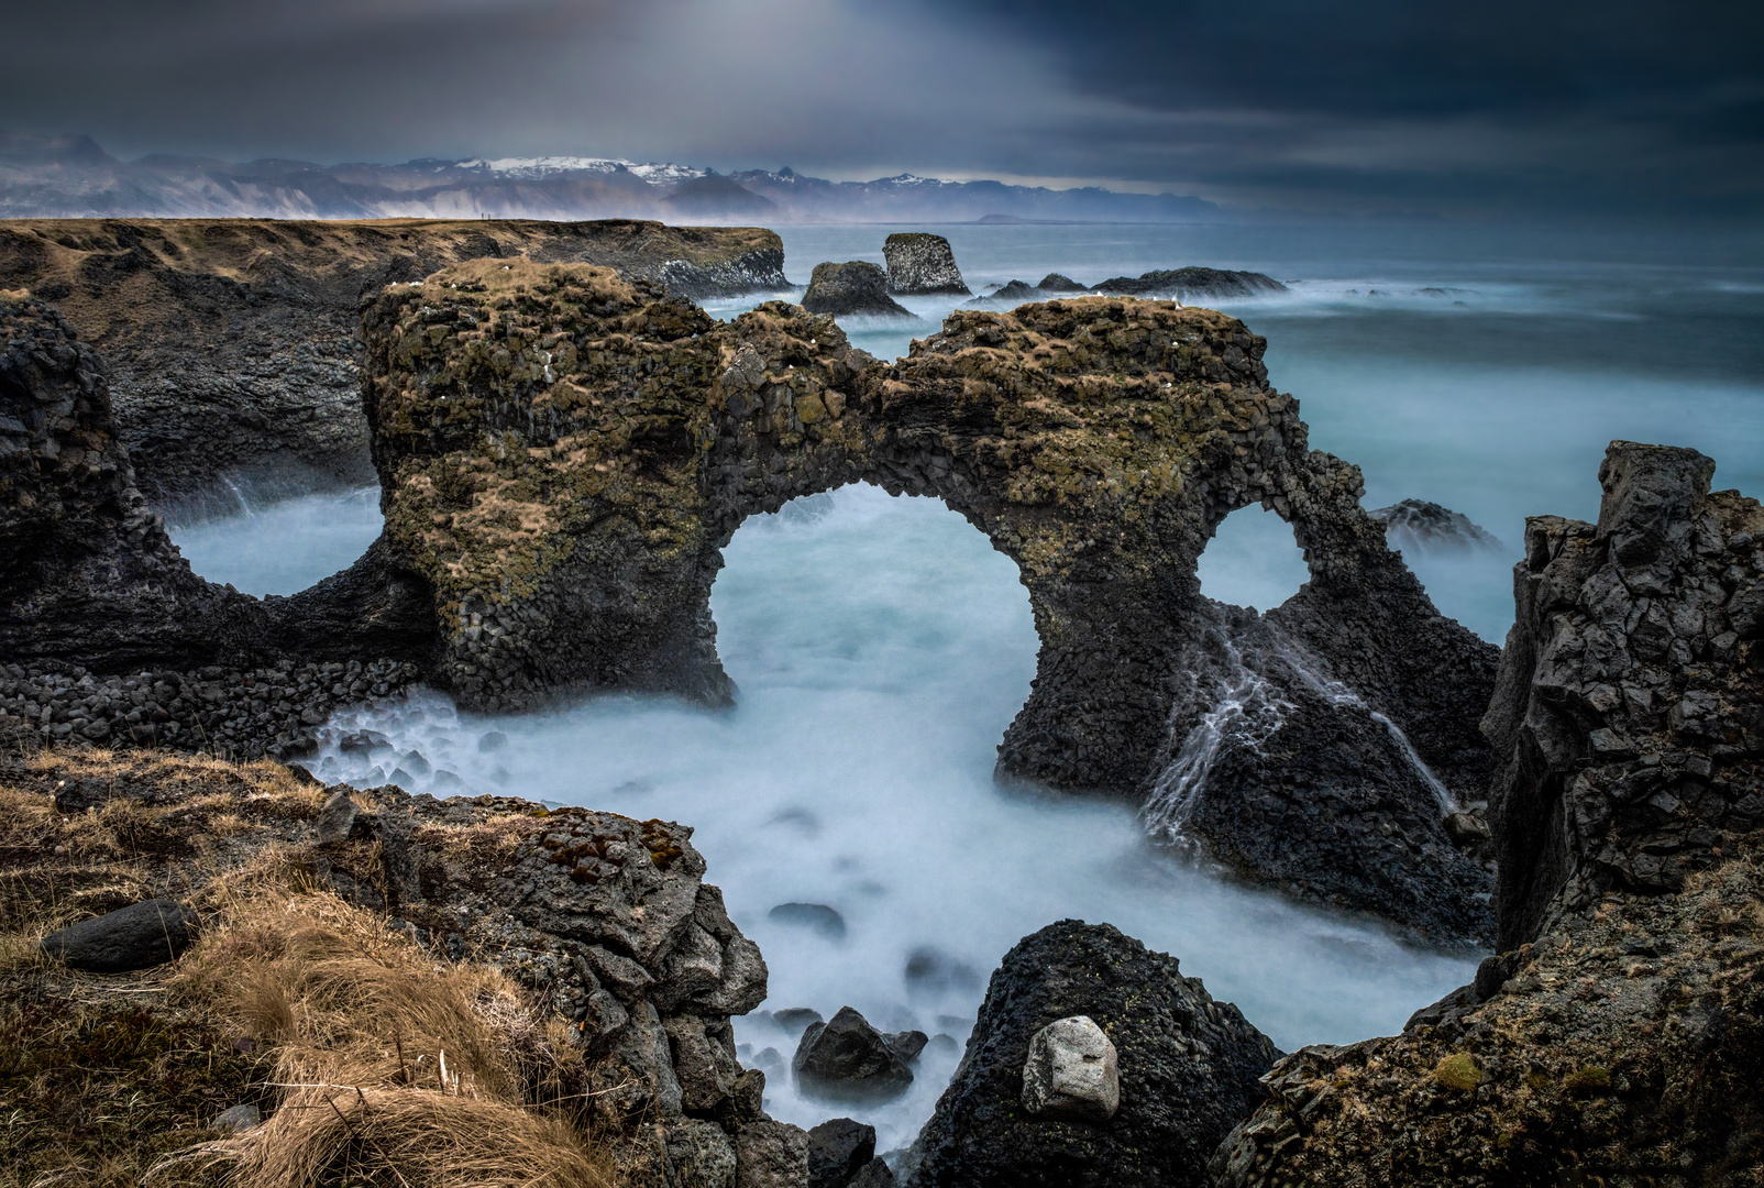
[[[792,169],[716,173],[602,157],[312,164],[153,155],[90,136],[0,132],[0,217],[662,219],[667,222],[1222,222],[1177,194],[944,182],[829,182]]]

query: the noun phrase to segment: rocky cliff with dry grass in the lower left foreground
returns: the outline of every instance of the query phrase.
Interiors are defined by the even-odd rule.
[[[56,1169],[56,1151],[148,1163],[212,1137],[208,1119],[226,1102],[210,1103],[206,1093],[231,1091],[261,1102],[266,1119],[231,1146],[208,1147],[182,1169],[208,1174],[178,1183],[217,1183],[217,1165],[245,1179],[252,1169],[266,1176],[277,1153],[319,1142],[314,1128],[332,1117],[344,1119],[346,1149],[319,1142],[312,1158],[321,1167],[326,1158],[369,1167],[392,1156],[411,1160],[406,1170],[422,1179],[415,1169],[432,1160],[489,1158],[506,1139],[475,1128],[453,1103],[513,1096],[520,1109],[506,1110],[499,1128],[527,1119],[563,1126],[566,1139],[573,1133],[564,1146],[594,1151],[609,1174],[587,1183],[806,1184],[806,1135],[764,1116],[764,1073],[741,1070],[729,1024],[766,997],[766,962],[729,920],[721,891],[704,883],[690,828],[513,798],[323,789],[273,764],[155,754],[7,759],[0,803],[0,872],[14,888],[0,911],[9,939],[150,897],[185,904],[199,937],[182,962],[136,974],[148,989],[104,981],[131,994],[125,1011],[78,1001],[106,997],[74,973],[81,953],[67,951],[72,969],[56,969],[9,950],[0,1086],[18,1087],[30,1045],[115,1045],[102,1071],[51,1066],[16,1100],[9,1130],[21,1147],[11,1153],[26,1167],[79,1174],[78,1163]],[[164,960],[161,951],[122,969]],[[400,976],[411,976],[402,969],[441,980],[415,1013],[400,999]],[[348,981],[333,987],[342,992],[330,996],[328,1013],[309,1013],[325,996],[314,983],[339,976]],[[462,1003],[464,1036],[446,1017],[446,978],[475,992]],[[265,1011],[275,994],[302,987],[309,1001],[300,1011]],[[201,1010],[208,999],[219,999],[222,1019]],[[56,1003],[81,1019],[79,1036],[62,1036]],[[231,1038],[215,1034],[217,1024]],[[302,1084],[342,1077],[286,1075],[302,1061],[314,1071],[333,1061],[340,1071],[335,1061],[351,1059],[355,1027],[377,1031],[377,1047],[399,1057],[349,1066],[348,1093]],[[198,1068],[206,1061],[206,1077],[153,1047],[164,1033],[178,1034]],[[473,1033],[485,1036],[478,1049],[462,1041]],[[497,1045],[515,1063],[512,1091],[494,1075],[503,1071]],[[67,1084],[71,1071],[85,1077],[83,1091]],[[556,1084],[542,1089],[542,1073]],[[132,1100],[129,1109],[145,1117],[175,1119],[182,1142],[93,1124],[81,1107],[108,1093]],[[399,1147],[386,1119],[413,1109],[434,1110],[434,1130]],[[445,1142],[436,1140],[441,1132]],[[92,1183],[115,1183],[95,1167],[85,1167]],[[767,1177],[766,1169],[783,1174]],[[319,1179],[328,1183],[323,1172]]]

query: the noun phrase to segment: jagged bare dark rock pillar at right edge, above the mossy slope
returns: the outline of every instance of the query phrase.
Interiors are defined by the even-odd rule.
[[[1672,891],[1764,826],[1764,514],[1695,450],[1612,441],[1598,524],[1536,515],[1484,731],[1501,948]]]

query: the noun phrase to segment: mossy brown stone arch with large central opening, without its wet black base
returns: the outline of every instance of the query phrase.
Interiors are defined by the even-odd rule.
[[[1459,741],[1397,655],[1416,620],[1446,621],[1358,508],[1358,471],[1307,450],[1235,318],[1113,298],[958,311],[884,365],[783,302],[716,323],[603,268],[501,261],[392,286],[363,318],[383,567],[432,588],[432,671],[467,704],[727,701],[721,545],[753,512],[875,482],[944,500],[1018,563],[1041,653],[1007,775],[1125,793],[1155,773],[1212,621],[1196,558],[1252,501],[1311,565],[1282,607],[1293,630],[1374,655],[1418,747]],[[1390,611],[1408,635],[1387,648]]]

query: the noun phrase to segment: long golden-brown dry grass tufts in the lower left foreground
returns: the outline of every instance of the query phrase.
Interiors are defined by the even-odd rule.
[[[506,976],[437,960],[328,891],[265,879],[219,895],[219,927],[169,989],[273,1049],[280,1103],[161,1174],[222,1163],[254,1188],[607,1188],[577,1128],[582,1057]]]

